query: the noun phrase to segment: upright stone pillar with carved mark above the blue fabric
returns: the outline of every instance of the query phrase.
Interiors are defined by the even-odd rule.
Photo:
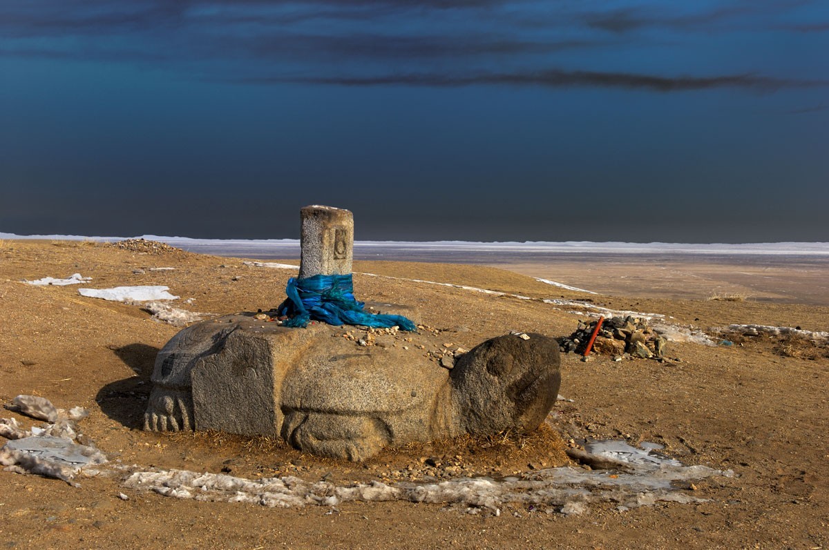
[[[314,275],[348,275],[354,258],[354,216],[332,206],[306,206],[302,221],[299,278]]]

